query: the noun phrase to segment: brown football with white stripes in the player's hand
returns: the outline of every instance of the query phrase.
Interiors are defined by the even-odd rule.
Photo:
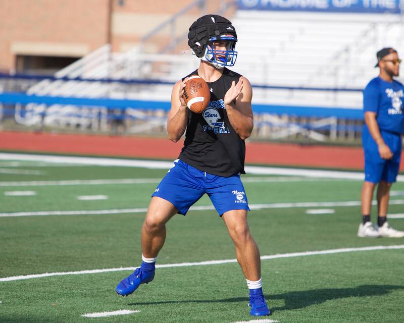
[[[189,76],[185,83],[183,98],[189,110],[202,113],[211,100],[208,83],[199,75]]]

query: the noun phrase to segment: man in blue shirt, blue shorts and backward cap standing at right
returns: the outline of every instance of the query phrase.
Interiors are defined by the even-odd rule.
[[[398,76],[401,60],[393,48],[383,48],[376,54],[379,76],[369,82],[363,91],[365,127],[362,144],[365,150],[365,182],[362,188],[363,223],[359,237],[404,237],[403,231],[394,230],[387,223],[387,208],[391,184],[396,181],[404,133],[402,100],[404,86],[393,80]],[[378,225],[370,221],[372,197],[377,188]]]

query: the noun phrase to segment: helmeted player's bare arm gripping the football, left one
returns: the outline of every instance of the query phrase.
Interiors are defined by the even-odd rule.
[[[168,138],[174,142],[181,138],[187,125],[188,107],[182,97],[187,80],[188,78],[183,81],[179,80],[171,92],[171,110],[167,119],[167,133]]]

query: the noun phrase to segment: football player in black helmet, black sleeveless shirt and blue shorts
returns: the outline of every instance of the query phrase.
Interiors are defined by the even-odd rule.
[[[218,15],[200,17],[189,28],[188,44],[200,64],[188,76],[197,74],[208,83],[211,100],[205,112],[193,113],[183,99],[188,76],[173,87],[168,137],[176,142],[185,133],[184,146],[152,195],[141,232],[143,261],[118,284],[120,295],[129,295],[153,280],[156,258],[166,238],[165,224],[176,213],[185,216],[206,193],[234,242],[249,289],[250,314],[270,314],[262,291],[260,252],[248,228],[249,207],[240,180],[240,174],[245,174],[244,140],[251,134],[253,120],[249,81],[227,69],[236,61],[236,42],[234,26]]]

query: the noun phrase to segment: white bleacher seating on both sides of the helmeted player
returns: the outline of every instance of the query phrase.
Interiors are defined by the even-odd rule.
[[[378,73],[375,53],[393,46],[404,56],[398,15],[236,11],[238,57],[232,68],[252,85],[363,88]],[[184,50],[188,49],[187,47]],[[83,78],[147,78],[175,82],[196,69],[189,55],[142,55],[139,48],[111,53],[104,46],[57,73]],[[167,101],[171,85],[48,82],[30,93],[82,97],[130,97]],[[254,102],[361,108],[360,92],[254,89]]]

